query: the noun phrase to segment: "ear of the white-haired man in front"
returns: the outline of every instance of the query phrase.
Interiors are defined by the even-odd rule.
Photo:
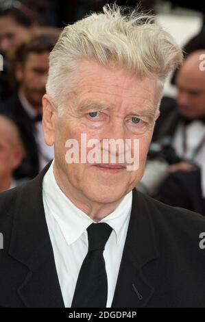
[[[43,97],[43,132],[45,143],[53,145],[55,143],[55,119],[57,116],[57,109],[51,103],[48,95]]]

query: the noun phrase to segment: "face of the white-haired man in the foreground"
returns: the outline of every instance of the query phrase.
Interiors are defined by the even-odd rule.
[[[76,198],[112,203],[130,192],[143,176],[159,114],[156,80],[111,71],[96,62],[82,62],[77,75],[80,78],[62,116],[53,116],[54,134],[47,132],[44,124],[45,138],[47,143],[55,143],[55,166],[63,186],[73,191]],[[87,140],[96,138],[100,142],[111,138],[139,139],[139,168],[128,171],[125,163],[121,169],[117,169],[119,164],[114,164],[114,169],[101,163],[68,164],[65,143],[71,138],[81,143],[81,134],[86,134]]]

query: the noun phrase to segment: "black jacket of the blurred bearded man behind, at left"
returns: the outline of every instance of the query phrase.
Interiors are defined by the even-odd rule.
[[[14,177],[17,179],[36,177],[39,173],[39,160],[38,147],[34,136],[34,122],[25,112],[17,94],[0,103],[0,114],[10,117],[16,123],[25,148],[25,159],[15,172]]]

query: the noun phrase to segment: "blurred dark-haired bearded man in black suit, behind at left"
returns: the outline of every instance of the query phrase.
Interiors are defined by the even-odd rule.
[[[14,54],[12,64],[19,88],[0,104],[0,113],[14,120],[25,147],[25,159],[15,173],[16,178],[35,177],[53,158],[53,147],[44,141],[41,119],[49,53],[58,35],[53,28],[39,29]]]

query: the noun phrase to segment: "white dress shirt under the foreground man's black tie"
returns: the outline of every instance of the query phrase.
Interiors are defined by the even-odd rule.
[[[86,229],[95,221],[62,193],[53,174],[53,163],[43,179],[43,203],[64,306],[71,308],[77,277],[88,252]],[[108,277],[107,308],[112,305],[131,208],[132,192],[124,197],[114,212],[100,221],[113,229],[104,250]]]

